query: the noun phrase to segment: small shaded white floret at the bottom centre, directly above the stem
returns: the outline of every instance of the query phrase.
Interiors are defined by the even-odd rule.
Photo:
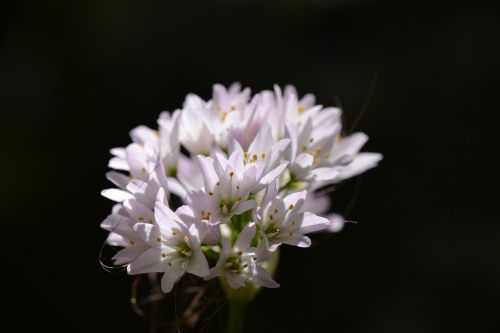
[[[222,250],[215,267],[208,278],[224,276],[233,289],[244,287],[247,283],[267,288],[277,288],[269,273],[259,265],[259,250],[250,247],[255,237],[255,223],[248,223],[231,247],[229,239],[222,239]]]

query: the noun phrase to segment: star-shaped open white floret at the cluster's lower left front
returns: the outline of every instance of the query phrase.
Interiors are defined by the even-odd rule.
[[[127,272],[163,272],[161,288],[165,293],[186,272],[206,276],[208,262],[200,245],[208,223],[198,221],[188,227],[161,199],[155,205],[155,219],[156,224],[135,224],[134,230],[149,248],[128,265]]]

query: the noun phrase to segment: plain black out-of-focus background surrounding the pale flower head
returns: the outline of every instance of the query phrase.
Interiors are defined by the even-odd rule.
[[[499,332],[495,1],[13,1],[0,9],[2,325],[146,332],[101,269],[109,148],[211,85],[295,84],[345,110],[380,167],[358,221],[286,248],[248,332]],[[336,96],[336,97],[335,97]],[[209,330],[216,332],[219,324]]]

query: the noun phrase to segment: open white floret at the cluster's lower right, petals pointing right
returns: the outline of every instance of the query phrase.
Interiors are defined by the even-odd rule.
[[[276,250],[281,243],[309,247],[311,240],[305,234],[328,227],[326,218],[301,212],[306,195],[304,190],[281,198],[277,195],[275,184],[268,186],[257,211],[257,224],[260,236],[270,251]]]

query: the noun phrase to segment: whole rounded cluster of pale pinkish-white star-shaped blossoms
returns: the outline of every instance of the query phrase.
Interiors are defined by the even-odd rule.
[[[359,152],[365,134],[341,130],[340,109],[292,86],[188,95],[181,110],[160,114],[157,130],[139,126],[132,143],[111,150],[106,176],[116,188],[102,195],[116,205],[101,227],[120,247],[114,263],[164,273],[166,293],[186,273],[234,289],[277,287],[263,266],[281,244],[308,247],[307,234],[342,228],[317,190],[382,158]]]

